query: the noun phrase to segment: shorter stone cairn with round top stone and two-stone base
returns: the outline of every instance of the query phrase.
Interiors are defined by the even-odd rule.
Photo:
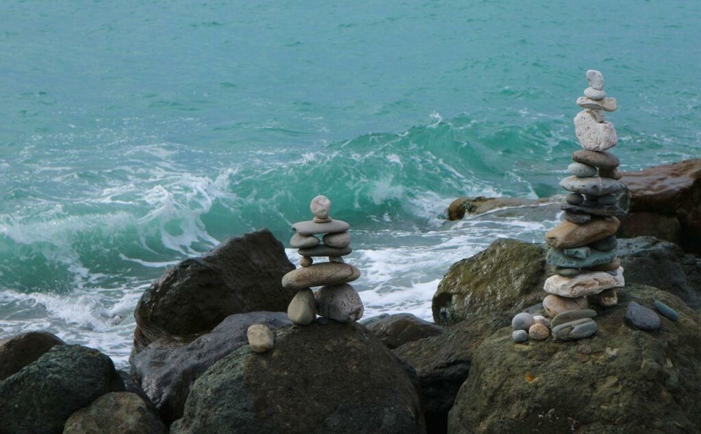
[[[287,307],[287,317],[299,325],[311,323],[317,313],[341,323],[360,320],[364,310],[360,295],[348,285],[360,277],[360,271],[343,262],[353,251],[351,226],[329,216],[331,201],[326,196],[313,198],[310,208],[312,220],[292,225],[297,233],[290,245],[299,249],[301,267],[283,276],[283,287],[299,290]],[[328,257],[329,262],[315,263],[318,257]],[[317,286],[320,289],[313,292],[311,288]]]

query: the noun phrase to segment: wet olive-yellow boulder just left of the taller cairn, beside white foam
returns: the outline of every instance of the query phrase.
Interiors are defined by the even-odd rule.
[[[493,311],[519,312],[543,299],[547,247],[502,238],[453,264],[433,295],[440,325],[480,318]]]

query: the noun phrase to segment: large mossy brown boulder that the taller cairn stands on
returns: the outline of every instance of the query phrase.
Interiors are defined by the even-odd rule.
[[[669,292],[627,285],[579,341],[515,344],[510,327],[475,351],[449,433],[692,433],[701,426],[698,313]],[[630,301],[660,300],[678,322],[644,332],[625,322]]]

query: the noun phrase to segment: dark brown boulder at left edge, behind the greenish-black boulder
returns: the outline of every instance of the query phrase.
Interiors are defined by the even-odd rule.
[[[10,377],[57,345],[65,342],[55,334],[28,332],[0,340],[0,380]]]

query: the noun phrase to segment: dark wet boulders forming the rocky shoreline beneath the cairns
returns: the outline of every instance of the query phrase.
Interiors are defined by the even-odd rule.
[[[654,201],[637,187],[642,184],[630,182],[625,208],[664,210],[693,237],[699,210],[688,208],[686,198],[701,194],[701,170],[688,168],[701,167],[701,160],[660,167],[645,176],[681,174],[681,180],[660,178],[676,186],[666,195],[679,206]],[[559,208],[557,201],[533,206]],[[531,206],[517,204],[526,212]],[[318,232],[338,233],[324,237],[336,250],[310,251],[317,244],[300,238],[311,234],[293,241],[310,259],[332,252],[339,259],[319,265],[338,268],[349,249],[346,230]],[[319,267],[306,261],[295,270],[272,233],[248,233],[168,269],[144,292],[130,372],[48,333],[0,341],[0,431],[695,432],[701,427],[701,261],[682,240],[636,235],[646,236],[611,246],[625,269],[616,304],[590,304],[576,314],[581,318],[553,318],[543,306],[553,273],[549,246],[498,239],[450,267],[433,297],[430,323],[406,313],[357,321],[362,304],[354,297],[338,305],[331,297],[320,311],[307,284],[300,290],[283,280]],[[331,285],[349,286],[352,274]],[[300,297],[306,298],[290,303]],[[656,311],[656,320],[641,308]],[[583,319],[597,327],[577,340],[534,330],[515,343],[515,316],[533,318],[529,332],[538,324],[559,335],[557,327]],[[252,326],[271,334],[261,352],[250,345]]]

